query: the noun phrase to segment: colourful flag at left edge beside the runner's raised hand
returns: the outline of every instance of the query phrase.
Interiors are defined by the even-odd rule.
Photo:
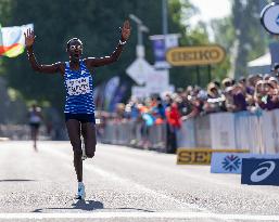
[[[33,24],[13,27],[1,27],[0,29],[0,56],[15,57],[24,52],[24,32],[33,29]]]

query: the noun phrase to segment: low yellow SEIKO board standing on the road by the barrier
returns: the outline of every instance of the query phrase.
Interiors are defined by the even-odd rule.
[[[177,165],[211,165],[212,153],[248,153],[246,149],[178,148]]]

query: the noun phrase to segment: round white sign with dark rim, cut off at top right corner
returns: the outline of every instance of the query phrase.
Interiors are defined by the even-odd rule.
[[[261,22],[267,31],[279,35],[279,4],[267,4],[261,13]]]

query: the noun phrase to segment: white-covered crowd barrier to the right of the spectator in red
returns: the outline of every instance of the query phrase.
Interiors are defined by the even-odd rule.
[[[217,113],[183,121],[178,147],[279,153],[279,109]]]

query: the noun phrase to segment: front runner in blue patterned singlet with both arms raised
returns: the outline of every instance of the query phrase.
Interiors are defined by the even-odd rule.
[[[81,58],[83,42],[78,38],[73,38],[68,40],[66,45],[69,62],[58,62],[51,65],[40,65],[37,62],[33,49],[36,38],[34,31],[29,29],[24,35],[27,55],[33,69],[46,74],[60,73],[64,78],[66,89],[64,114],[68,138],[74,152],[74,167],[78,181],[77,198],[84,199],[86,193],[83,183],[80,133],[84,138],[86,156],[92,158],[96,152],[93,79],[89,70],[118,60],[123,47],[130,36],[129,21],[125,21],[119,43],[110,56]]]

